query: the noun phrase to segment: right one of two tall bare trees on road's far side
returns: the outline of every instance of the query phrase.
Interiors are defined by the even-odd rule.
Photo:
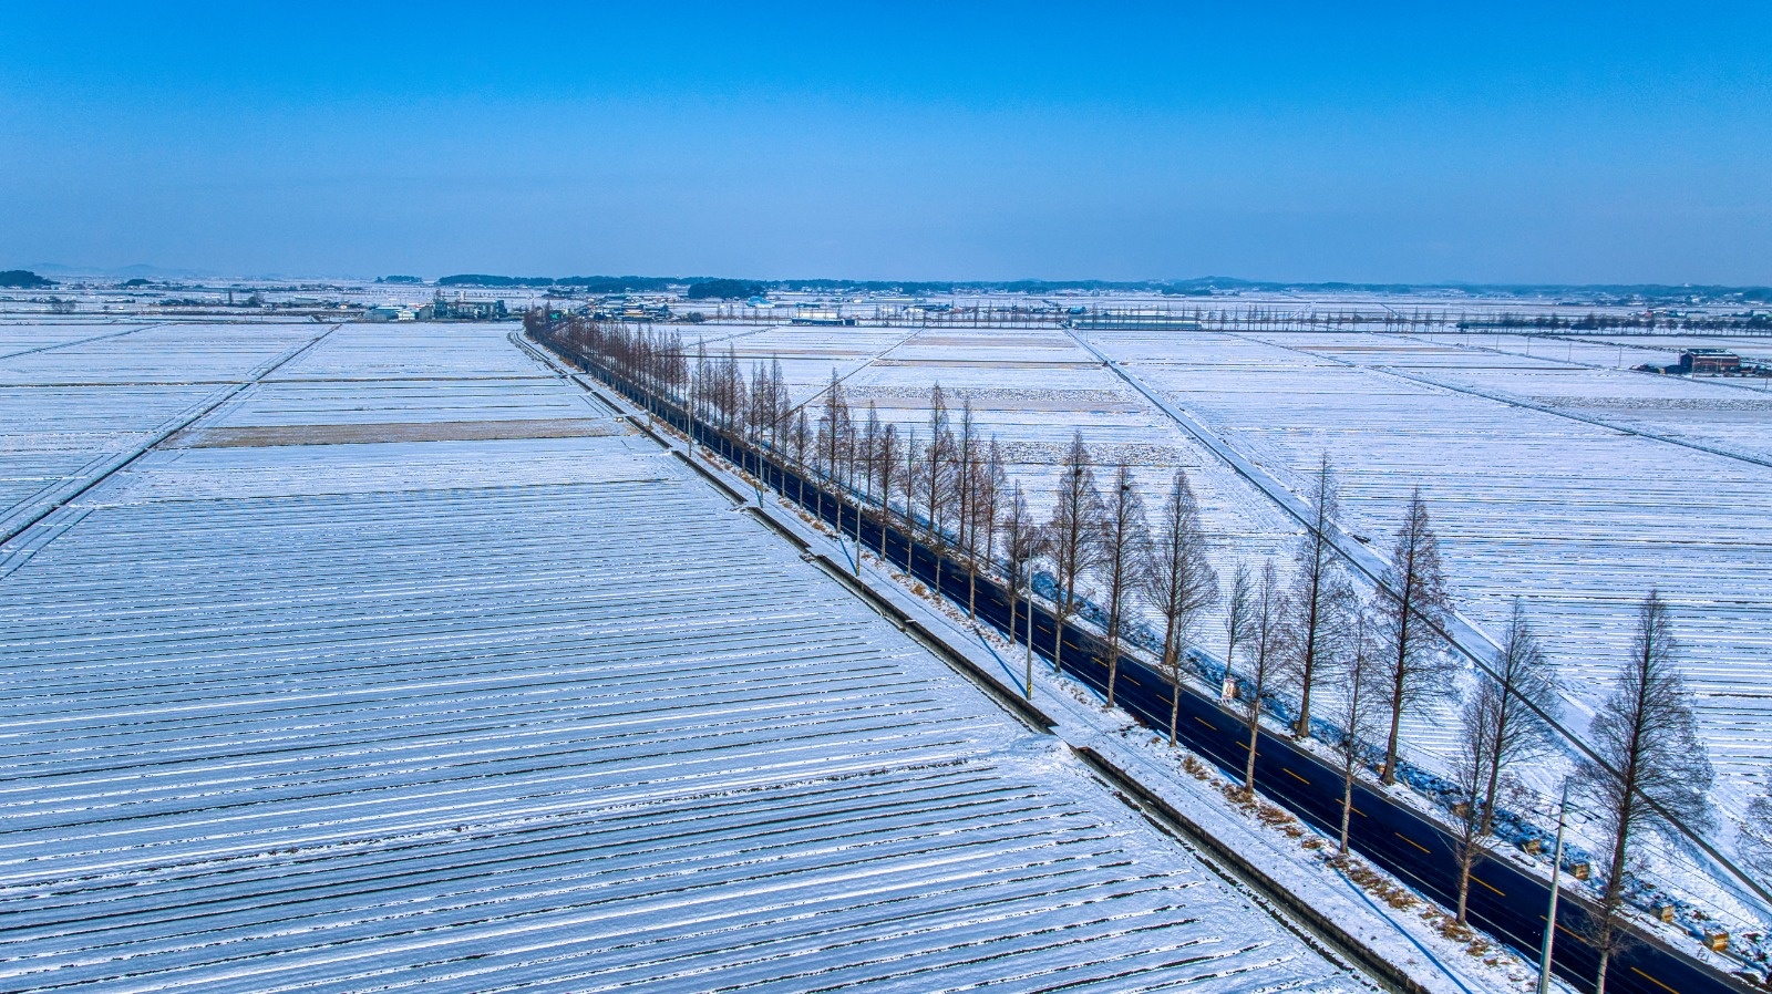
[[[1379,774],[1386,785],[1396,783],[1396,742],[1403,711],[1444,698],[1453,689],[1458,664],[1446,654],[1446,640],[1441,636],[1449,617],[1451,597],[1441,571],[1439,537],[1428,523],[1421,487],[1416,487],[1396,530],[1391,563],[1373,606],[1377,636],[1386,645],[1384,696],[1391,709],[1384,769]]]

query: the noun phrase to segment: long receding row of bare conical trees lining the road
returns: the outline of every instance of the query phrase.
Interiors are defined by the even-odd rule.
[[[796,404],[780,361],[755,361],[746,376],[730,346],[725,354],[696,346],[689,360],[675,331],[588,321],[556,324],[546,335],[569,354],[594,356],[649,404],[675,404],[707,429],[769,452],[785,468],[774,484],[783,491],[792,484],[799,503],[806,503],[808,480],[815,482],[813,507],[820,514],[826,491],[847,494],[858,509],[858,569],[861,516],[872,514],[882,528],[895,526],[936,553],[937,594],[946,562],[966,569],[973,618],[978,576],[1001,578],[1010,592],[1008,627],[1017,638],[1026,633],[1030,666],[1035,574],[1045,567],[1053,578],[1047,601],[1058,622],[1049,652],[1054,670],[1065,666],[1065,624],[1093,592],[1106,640],[1109,707],[1116,703],[1129,622],[1155,617],[1162,629],[1157,663],[1173,687],[1171,744],[1182,661],[1198,645],[1203,618],[1221,608],[1224,666],[1235,673],[1233,698],[1247,730],[1244,790],[1255,790],[1263,709],[1285,716],[1295,737],[1329,739],[1341,755],[1341,854],[1359,771],[1370,764],[1380,785],[1395,783],[1403,718],[1457,703],[1458,746],[1448,780],[1455,790],[1458,923],[1465,920],[1471,870],[1496,845],[1497,799],[1522,764],[1559,748],[1558,679],[1519,604],[1485,673],[1467,673],[1453,656],[1453,604],[1419,491],[1411,494],[1391,540],[1382,581],[1363,595],[1334,544],[1340,500],[1324,457],[1310,475],[1308,526],[1294,544],[1290,569],[1274,560],[1256,571],[1239,563],[1221,592],[1198,500],[1182,470],[1166,482],[1152,526],[1132,468],[1113,464],[1102,487],[1097,459],[1077,432],[1058,468],[1051,514],[1037,521],[1021,484],[1006,478],[1001,447],[980,436],[971,400],[962,399],[955,413],[939,384],[930,390],[927,416],[900,429],[882,420],[872,402],[865,411],[851,409],[835,370],[824,390]],[[904,555],[909,572],[909,542]],[[1682,826],[1710,824],[1710,764],[1669,625],[1666,602],[1650,594],[1639,610],[1632,657],[1591,723],[1593,755],[1575,769],[1577,796],[1605,838],[1600,916],[1591,936],[1602,955],[1602,990],[1620,941],[1627,875],[1641,861],[1646,836],[1673,838]],[[1026,687],[1031,693],[1031,670]]]

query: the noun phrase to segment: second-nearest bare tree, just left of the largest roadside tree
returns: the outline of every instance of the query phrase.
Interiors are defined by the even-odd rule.
[[[1492,675],[1478,677],[1458,714],[1458,751],[1453,755],[1453,849],[1458,856],[1458,923],[1465,920],[1471,866],[1488,850],[1496,826],[1496,796],[1510,767],[1556,748],[1550,718],[1559,707],[1556,673],[1513,602],[1508,631]]]

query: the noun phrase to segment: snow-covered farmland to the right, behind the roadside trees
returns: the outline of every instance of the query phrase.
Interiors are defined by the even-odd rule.
[[[815,337],[796,361],[803,397],[835,365],[851,400],[905,423],[929,386],[971,397],[983,434],[1047,505],[1054,462],[1081,429],[1102,462],[1139,468],[1146,500],[1184,466],[1217,565],[1285,551],[1297,524],[1061,330],[927,330],[882,358],[833,342],[881,330],[748,335],[741,358]],[[902,331],[902,330],[895,330]],[[1350,530],[1386,551],[1412,487],[1439,528],[1458,608],[1497,631],[1520,597],[1572,693],[1572,719],[1605,691],[1636,602],[1659,588],[1676,611],[1701,732],[1717,764],[1722,833],[1772,790],[1772,395],[1758,381],[1630,372],[1682,347],[1772,351],[1772,338],[1559,340],[1520,335],[1090,331],[1122,361],[1260,468],[1304,493],[1327,454]],[[828,358],[826,358],[828,356]],[[808,369],[813,367],[813,369]],[[792,372],[790,372],[792,377]],[[1212,647],[1216,624],[1209,624]],[[1414,716],[1407,753],[1437,765],[1444,711]],[[1671,854],[1667,854],[1671,858]]]

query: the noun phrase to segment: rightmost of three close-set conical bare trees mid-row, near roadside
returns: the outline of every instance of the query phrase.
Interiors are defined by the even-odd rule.
[[[1170,746],[1182,711],[1182,652],[1193,640],[1200,613],[1217,601],[1217,574],[1207,563],[1207,539],[1200,530],[1200,503],[1177,470],[1162,503],[1162,521],[1145,565],[1145,601],[1162,617],[1162,670],[1170,675]],[[1247,581],[1247,576],[1244,576]]]

